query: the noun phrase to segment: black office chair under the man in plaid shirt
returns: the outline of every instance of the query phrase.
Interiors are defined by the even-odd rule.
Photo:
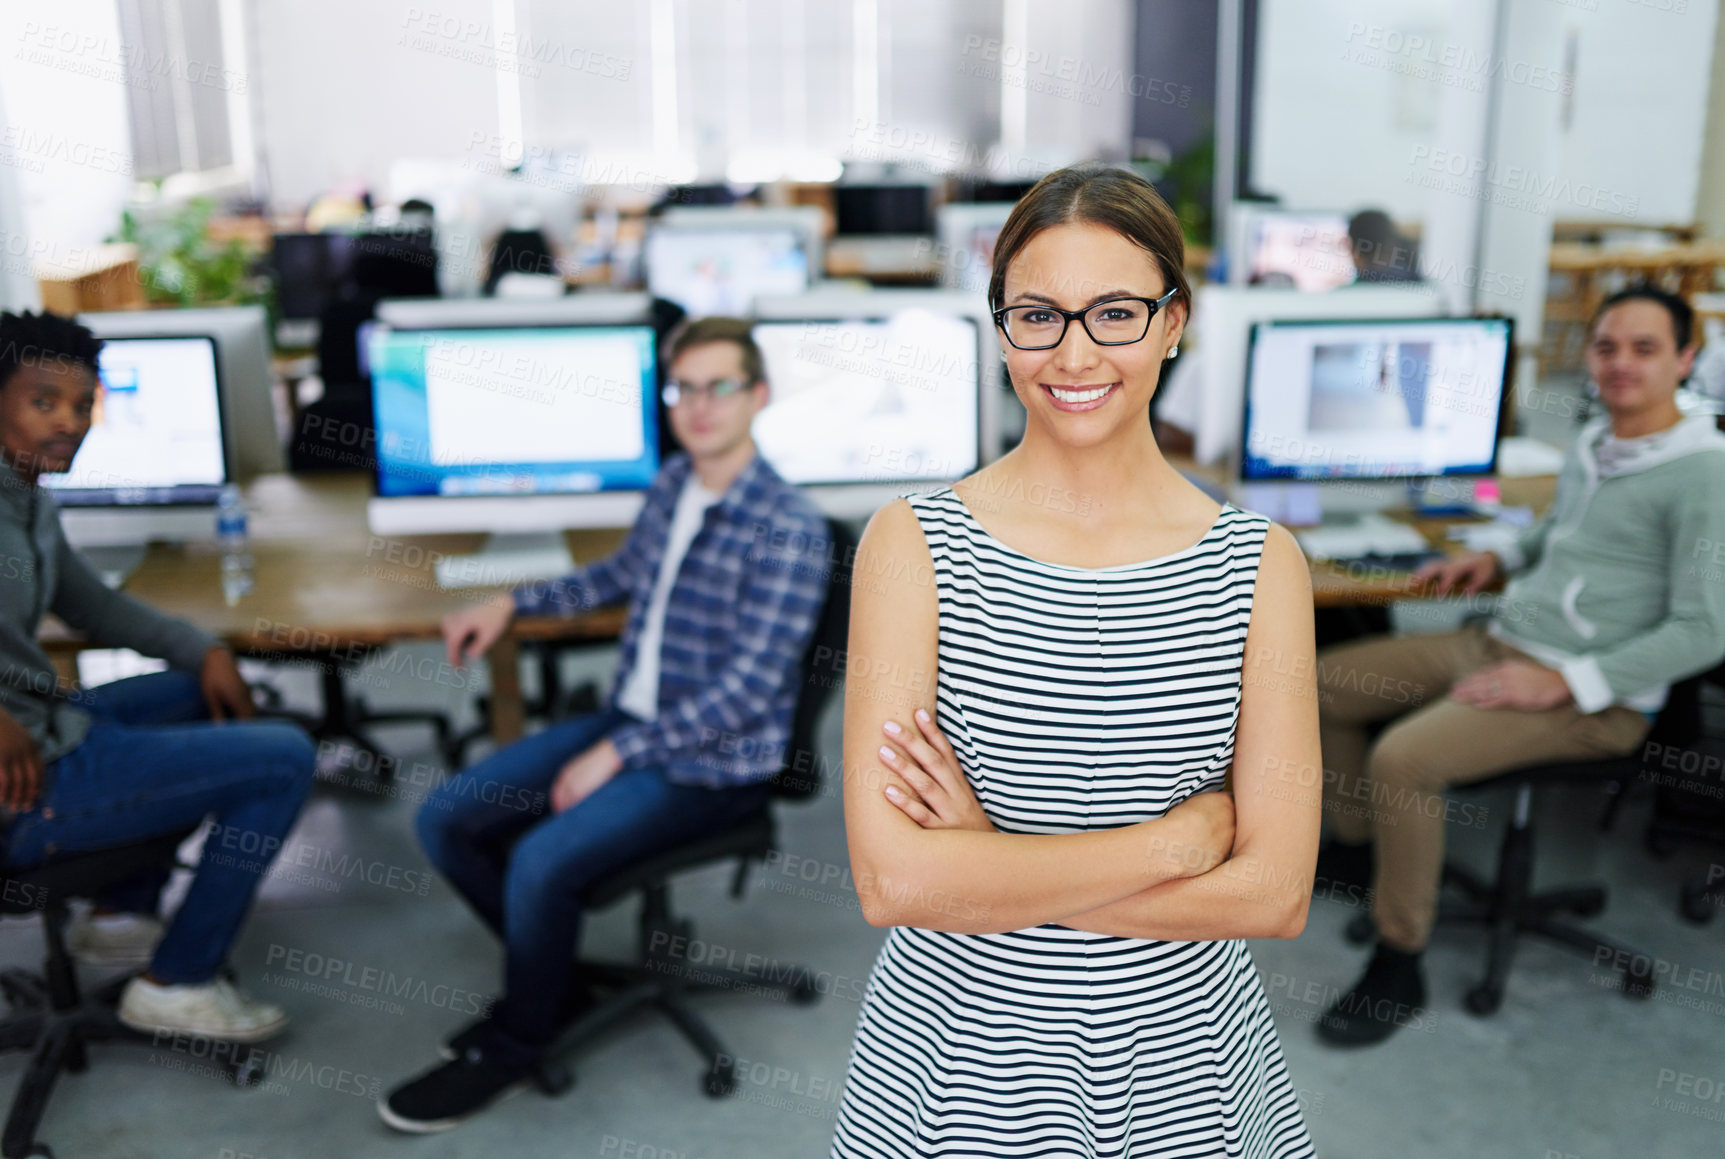
[[[778,799],[806,799],[819,788],[816,728],[821,709],[838,685],[830,657],[844,654],[850,626],[850,561],[856,555],[856,536],[835,519],[828,519],[828,528],[831,535],[828,564],[833,573],[814,635],[802,655],[802,692],[797,695],[792,716],[785,762],[771,781],[773,797]],[[642,1007],[654,1007],[669,1018],[695,1047],[707,1064],[700,1088],[709,1097],[723,1099],[737,1088],[735,1056],[690,1007],[690,995],[742,988],[749,993],[775,992],[792,1002],[807,1004],[819,997],[814,974],[804,966],[775,966],[768,976],[719,966],[692,966],[676,952],[678,947],[690,943],[693,924],[671,911],[671,878],[733,861],[737,868],[731,874],[731,897],[742,897],[749,866],[766,861],[775,847],[776,831],[769,805],[723,833],[630,866],[588,890],[583,900],[590,909],[605,909],[637,892],[642,895],[637,957],[626,964],[576,962],[576,976],[581,981],[611,993],[583,1014],[547,1052],[547,1061],[540,1064],[536,1076],[542,1090],[547,1093],[568,1090],[574,1080],[561,1059],[605,1026]]]

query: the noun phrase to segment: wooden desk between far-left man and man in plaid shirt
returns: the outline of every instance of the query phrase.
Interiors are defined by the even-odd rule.
[[[364,474],[264,476],[247,488],[252,512],[254,592],[228,607],[214,543],[150,547],[126,593],[183,616],[240,655],[352,662],[367,648],[436,640],[443,616],[499,588],[445,592],[438,555],[478,550],[481,535],[374,536],[366,528],[371,481]],[[571,531],[569,552],[588,561],[612,552],[624,529]],[[521,640],[614,640],[623,609],[573,619],[519,619],[492,652],[492,735],[521,736]],[[64,669],[90,647],[57,621],[41,642]]]

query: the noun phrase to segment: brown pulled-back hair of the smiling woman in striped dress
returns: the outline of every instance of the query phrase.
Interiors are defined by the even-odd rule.
[[[1164,288],[1178,288],[1192,309],[1192,286],[1185,279],[1185,235],[1180,219],[1149,181],[1130,169],[1085,164],[1056,169],[1037,181],[1013,207],[994,243],[994,276],[988,307],[1000,309],[1006,297],[1006,267],[1033,236],[1068,222],[1104,226],[1156,259]]]

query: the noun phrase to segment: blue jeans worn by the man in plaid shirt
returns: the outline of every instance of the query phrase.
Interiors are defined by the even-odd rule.
[[[504,942],[492,1024],[518,1061],[557,1037],[588,886],[766,807],[766,785],[674,785],[662,769],[642,767],[552,812],[562,766],[624,719],[611,711],[554,724],[450,778],[419,809],[431,864]]]

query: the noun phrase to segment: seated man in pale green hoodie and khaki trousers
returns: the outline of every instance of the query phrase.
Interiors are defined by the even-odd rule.
[[[1378,933],[1364,974],[1318,1024],[1327,1042],[1380,1042],[1425,1002],[1420,952],[1454,812],[1446,786],[1628,754],[1668,686],[1725,657],[1725,583],[1711,567],[1725,543],[1725,435],[1677,405],[1694,357],[1682,298],[1647,286],[1606,298],[1587,347],[1606,414],[1570,448],[1551,512],[1502,552],[1420,573],[1470,595],[1509,576],[1490,624],[1320,654],[1333,833],[1320,876],[1370,880]]]

